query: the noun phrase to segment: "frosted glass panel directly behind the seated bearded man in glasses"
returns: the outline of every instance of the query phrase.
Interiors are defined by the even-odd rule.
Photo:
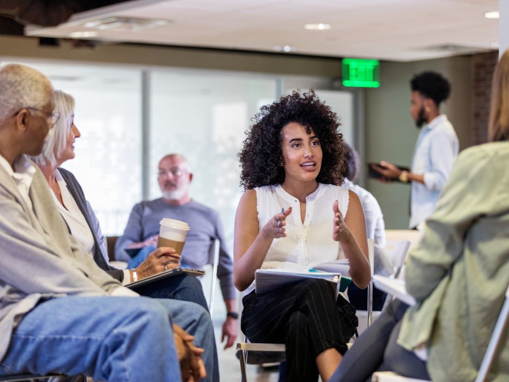
[[[237,153],[250,119],[274,101],[275,78],[202,71],[152,71],[150,198],[161,196],[157,163],[168,153],[189,160],[190,195],[221,215],[230,248],[242,189]]]

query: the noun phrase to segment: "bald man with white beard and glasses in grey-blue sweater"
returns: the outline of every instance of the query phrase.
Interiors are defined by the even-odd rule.
[[[219,214],[189,196],[193,174],[184,156],[179,154],[164,156],[159,161],[157,174],[162,198],[143,201],[133,207],[124,234],[115,245],[115,258],[128,261],[129,268],[138,266],[155,250],[159,222],[165,217],[186,222],[190,227],[184,249],[180,254],[181,266],[203,269],[208,260],[211,243],[219,239],[217,278],[227,309],[221,341],[226,339],[225,348],[230,347],[237,338],[238,314],[233,285],[233,262],[228,254]],[[136,250],[139,252],[133,254]]]

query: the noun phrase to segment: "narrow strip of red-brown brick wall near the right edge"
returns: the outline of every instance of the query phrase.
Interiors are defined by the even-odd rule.
[[[498,51],[472,56],[472,143],[486,142],[490,116],[491,79]]]

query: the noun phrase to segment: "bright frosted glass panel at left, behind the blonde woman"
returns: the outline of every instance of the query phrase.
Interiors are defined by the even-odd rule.
[[[103,234],[122,233],[133,204],[142,199],[140,70],[23,63],[75,98],[81,138],[74,145],[76,157],[62,167],[83,187]]]

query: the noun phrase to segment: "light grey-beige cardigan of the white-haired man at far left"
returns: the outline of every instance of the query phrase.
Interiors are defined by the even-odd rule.
[[[109,295],[120,283],[69,235],[39,168],[29,208],[0,166],[0,359],[17,322],[41,298]]]

